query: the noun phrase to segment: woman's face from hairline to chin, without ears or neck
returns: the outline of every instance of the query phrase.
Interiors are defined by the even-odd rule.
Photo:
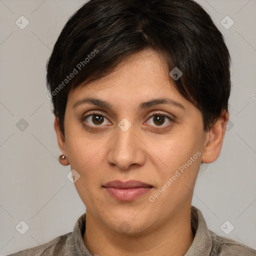
[[[75,187],[86,214],[117,232],[147,232],[190,209],[206,133],[201,112],[164,70],[153,51],[143,50],[68,94],[63,153],[80,175]],[[152,101],[163,98],[170,103]],[[151,187],[106,189],[112,180]]]

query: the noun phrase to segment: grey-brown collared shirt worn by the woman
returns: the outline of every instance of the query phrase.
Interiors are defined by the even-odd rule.
[[[208,230],[201,211],[194,206],[191,227],[195,236],[184,256],[256,256],[256,250]],[[83,242],[84,231],[85,213],[76,220],[72,232],[7,256],[92,256]]]

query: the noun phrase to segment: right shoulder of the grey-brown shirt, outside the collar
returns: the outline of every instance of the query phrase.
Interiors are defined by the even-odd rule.
[[[212,256],[256,256],[256,250],[235,240],[219,236],[209,230],[212,238]]]

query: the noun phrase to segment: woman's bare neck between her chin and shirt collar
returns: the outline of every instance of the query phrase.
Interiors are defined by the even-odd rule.
[[[86,209],[83,241],[92,255],[183,256],[194,238],[190,209],[189,205],[164,221],[162,226],[139,235],[115,232]]]

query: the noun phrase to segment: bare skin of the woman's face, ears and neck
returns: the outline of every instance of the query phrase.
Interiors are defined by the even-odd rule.
[[[89,103],[73,108],[85,97],[107,101],[113,109]],[[160,97],[175,100],[184,109],[161,103],[137,110],[141,102]],[[106,118],[93,121],[89,116],[80,121],[91,110]],[[154,120],[161,116],[158,112],[173,120],[165,117],[159,124]],[[123,118],[131,124],[127,131],[118,126]],[[204,131],[201,112],[174,89],[163,60],[149,49],[126,58],[111,74],[70,91],[65,136],[57,117],[54,128],[66,155],[61,163],[80,174],[74,184],[86,206],[83,241],[91,254],[184,255],[194,238],[190,210],[200,163],[217,159],[227,120],[228,113],[223,111],[211,129]],[[155,201],[149,201],[197,151],[198,158]],[[135,200],[120,201],[102,187],[116,179],[135,179],[153,188]],[[126,233],[118,228],[123,221],[128,223]]]

